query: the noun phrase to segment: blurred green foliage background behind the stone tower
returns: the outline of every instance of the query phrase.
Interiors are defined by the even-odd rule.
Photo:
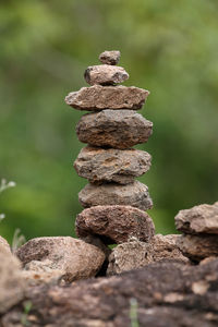
[[[150,90],[141,113],[154,134],[140,148],[153,167],[140,180],[157,232],[174,232],[179,209],[217,201],[217,0],[1,1],[0,178],[17,184],[0,195],[3,237],[74,235],[84,112],[63,99],[106,49],[121,51],[125,85]]]

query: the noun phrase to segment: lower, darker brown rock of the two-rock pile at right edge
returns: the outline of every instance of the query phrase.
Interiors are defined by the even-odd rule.
[[[209,256],[218,256],[217,235],[181,235],[177,244],[185,256],[196,262]]]

